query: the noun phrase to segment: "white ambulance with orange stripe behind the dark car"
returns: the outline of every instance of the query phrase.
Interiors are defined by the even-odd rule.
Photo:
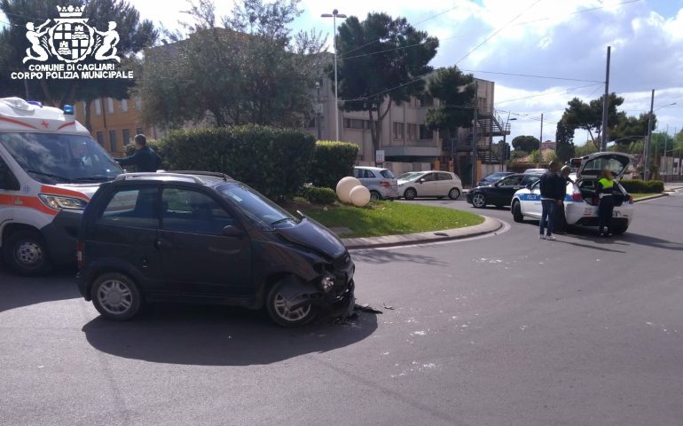
[[[72,106],[0,99],[0,249],[15,272],[75,261],[78,217],[102,182],[123,170]]]

